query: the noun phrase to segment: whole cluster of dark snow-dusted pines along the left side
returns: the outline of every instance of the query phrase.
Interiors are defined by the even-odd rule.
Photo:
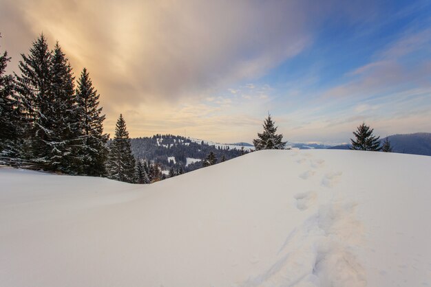
[[[51,50],[41,34],[21,57],[19,74],[6,74],[10,57],[0,55],[0,163],[129,183],[162,178],[154,163],[136,163],[122,115],[108,144],[90,73],[75,81],[58,42]]]

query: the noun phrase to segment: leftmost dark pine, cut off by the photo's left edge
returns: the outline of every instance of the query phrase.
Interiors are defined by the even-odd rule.
[[[1,36],[0,36],[1,37]],[[0,156],[19,157],[19,102],[14,97],[14,78],[6,75],[10,58],[5,51],[0,55]]]

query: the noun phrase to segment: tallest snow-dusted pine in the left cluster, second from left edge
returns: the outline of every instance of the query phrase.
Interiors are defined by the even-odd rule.
[[[50,145],[54,127],[52,115],[53,98],[52,53],[48,49],[45,36],[41,34],[30,48],[27,56],[21,54],[19,62],[21,76],[17,78],[17,92],[23,105],[24,142],[23,155],[40,168],[50,169]]]

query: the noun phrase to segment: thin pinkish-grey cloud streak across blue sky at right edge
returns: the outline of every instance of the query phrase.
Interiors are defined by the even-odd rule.
[[[431,87],[431,30],[408,31],[378,51],[374,61],[346,73],[347,80],[324,91],[323,99],[366,99],[411,87]],[[421,54],[420,62],[417,54]]]

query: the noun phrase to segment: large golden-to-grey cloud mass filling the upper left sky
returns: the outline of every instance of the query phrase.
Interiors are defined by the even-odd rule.
[[[173,100],[254,78],[298,54],[309,41],[305,7],[294,1],[6,4],[8,10],[19,10],[14,22],[32,23],[23,27],[33,35],[23,52],[40,32],[51,43],[58,39],[72,64],[78,69],[87,66],[109,100],[116,102]]]

